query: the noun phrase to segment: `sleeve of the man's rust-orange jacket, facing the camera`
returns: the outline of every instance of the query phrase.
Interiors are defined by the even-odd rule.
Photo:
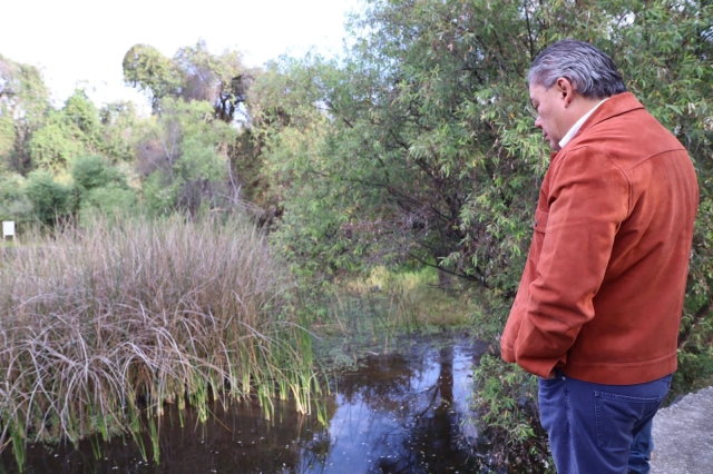
[[[557,160],[536,277],[515,342],[517,363],[548,376],[566,363],[606,274],[614,239],[629,210],[624,172],[589,147]]]

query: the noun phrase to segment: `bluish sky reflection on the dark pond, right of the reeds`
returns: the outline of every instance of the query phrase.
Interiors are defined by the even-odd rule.
[[[468,396],[472,357],[456,346],[368,361],[341,387],[325,465],[355,473],[472,472],[458,405]]]

